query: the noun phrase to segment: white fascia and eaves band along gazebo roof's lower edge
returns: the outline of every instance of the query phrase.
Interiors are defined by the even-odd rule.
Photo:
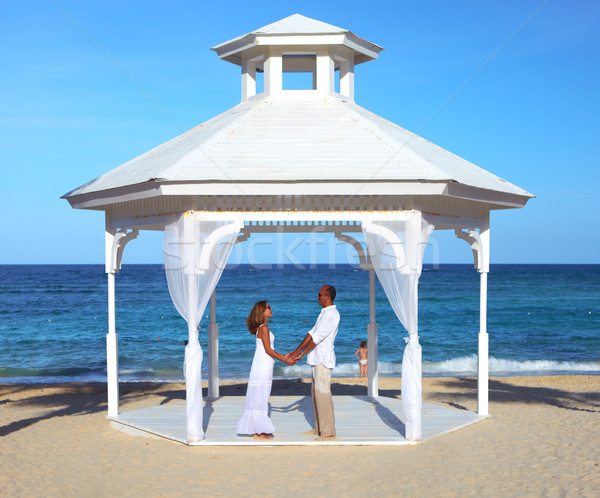
[[[461,223],[456,218],[481,219],[490,209],[523,207],[528,197],[495,195],[490,192],[484,201],[478,199],[478,189],[467,195],[451,197],[447,183],[416,182],[348,182],[348,183],[154,183],[130,186],[102,193],[90,193],[67,198],[73,208],[106,210],[111,220],[117,218],[148,218],[160,214],[175,215],[190,209],[238,209],[254,211],[269,209],[330,209],[343,206],[348,210],[381,211],[388,209],[419,209],[424,213],[446,218],[447,228],[479,226]],[[348,194],[352,190],[353,192]],[[244,192],[245,194],[242,194]],[[307,194],[310,192],[310,194]],[[285,196],[285,197],[284,197]],[[287,208],[285,206],[288,206]],[[142,220],[143,221],[143,220]],[[455,223],[456,221],[456,223]],[[112,227],[135,226],[119,224]]]

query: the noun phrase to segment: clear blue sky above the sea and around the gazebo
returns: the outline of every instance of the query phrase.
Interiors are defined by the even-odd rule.
[[[103,213],[60,196],[238,104],[239,67],[209,48],[296,12],[385,47],[359,105],[536,195],[492,213],[492,263],[600,263],[596,2],[40,0],[0,16],[0,264],[103,263]],[[162,233],[125,251],[161,262]]]

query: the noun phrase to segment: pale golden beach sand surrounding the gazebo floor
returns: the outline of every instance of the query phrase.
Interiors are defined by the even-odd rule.
[[[364,386],[334,379],[333,391]],[[400,379],[379,386],[400,393]],[[275,381],[273,394],[304,387]],[[426,378],[423,391],[476,409],[474,379]],[[122,410],[181,399],[182,384],[121,384]],[[600,376],[492,378],[490,413],[417,446],[203,448],[116,430],[103,384],[1,384],[0,495],[600,496]]]

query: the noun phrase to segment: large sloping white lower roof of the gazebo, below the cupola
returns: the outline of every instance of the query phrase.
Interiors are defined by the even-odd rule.
[[[146,182],[455,182],[525,190],[339,95],[257,96],[66,197]],[[350,190],[355,187],[349,186]]]

